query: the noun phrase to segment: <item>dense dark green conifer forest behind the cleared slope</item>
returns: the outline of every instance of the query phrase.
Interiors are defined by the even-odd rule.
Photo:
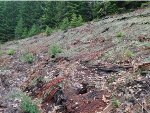
[[[66,30],[83,22],[144,7],[135,1],[1,1],[0,42],[21,39],[53,30]]]

